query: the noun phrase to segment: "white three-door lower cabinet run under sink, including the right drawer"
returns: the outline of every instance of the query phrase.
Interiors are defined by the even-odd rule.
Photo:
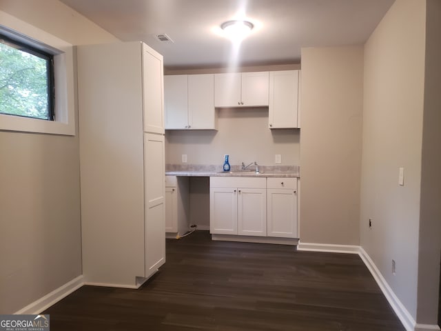
[[[298,238],[297,179],[210,177],[210,233]]]

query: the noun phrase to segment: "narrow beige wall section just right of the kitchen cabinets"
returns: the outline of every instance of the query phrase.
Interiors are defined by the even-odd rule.
[[[302,48],[300,240],[359,244],[362,46]]]

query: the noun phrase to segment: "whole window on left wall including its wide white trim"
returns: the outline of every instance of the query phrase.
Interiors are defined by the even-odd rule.
[[[3,101],[2,93],[5,91],[0,90],[0,131],[74,136],[76,131],[74,46],[1,10],[0,22],[0,39],[3,40],[0,41],[1,50],[16,52],[15,56],[21,60],[23,57],[28,57],[44,63],[44,66],[41,64],[41,68],[45,67],[47,70],[41,75],[41,81],[45,81],[45,84],[40,90],[45,92],[45,97],[37,99],[37,95],[42,96],[43,93],[37,93],[38,91],[35,92],[25,85],[30,85],[32,79],[29,77],[21,80],[25,84],[21,85],[20,91],[14,90],[17,92],[13,98],[16,99],[14,102],[19,105],[21,102],[31,104],[30,107],[23,106],[21,112],[17,111],[17,108],[20,109],[17,105],[10,107],[10,110],[7,110],[7,106],[3,106],[6,102]],[[1,50],[0,71],[3,70],[3,61],[5,61]],[[0,75],[0,88],[4,85],[10,86],[8,92],[15,88],[11,83],[3,83]],[[43,109],[45,111],[42,111]]]

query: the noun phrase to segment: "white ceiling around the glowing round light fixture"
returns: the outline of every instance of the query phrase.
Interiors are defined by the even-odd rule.
[[[394,0],[61,0],[123,41],[144,41],[167,68],[227,66],[232,43],[215,33],[247,18],[241,66],[300,62],[304,46],[364,43]],[[166,33],[174,43],[154,36]]]

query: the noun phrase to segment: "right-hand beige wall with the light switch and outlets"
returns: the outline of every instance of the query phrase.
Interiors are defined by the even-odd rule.
[[[430,162],[435,161],[433,165],[439,170],[440,134],[435,133],[440,123],[439,58],[434,61],[435,53],[427,54],[435,63],[427,69],[438,68],[438,77],[427,77],[431,92],[424,91],[425,29],[426,1],[398,0],[365,46],[360,234],[362,247],[413,319],[435,324],[440,177],[431,177],[436,171]],[[438,91],[434,93],[436,83]],[[438,128],[434,128],[430,122],[437,120]],[[431,154],[436,148],[438,153]],[[398,185],[400,167],[404,168],[404,186]],[[438,186],[433,186],[437,180]],[[433,189],[438,192],[436,213]],[[369,218],[373,220],[371,229]],[[433,227],[433,223],[438,225]],[[437,231],[426,237],[433,230]],[[431,237],[436,239],[430,243],[427,240]],[[392,260],[396,261],[396,274],[391,272]],[[427,269],[431,271],[423,276]],[[431,294],[420,298],[420,292],[425,295],[427,290]],[[426,312],[432,318],[421,314],[421,320],[417,319],[417,307],[419,312],[427,308],[422,303],[428,299],[432,307]]]

